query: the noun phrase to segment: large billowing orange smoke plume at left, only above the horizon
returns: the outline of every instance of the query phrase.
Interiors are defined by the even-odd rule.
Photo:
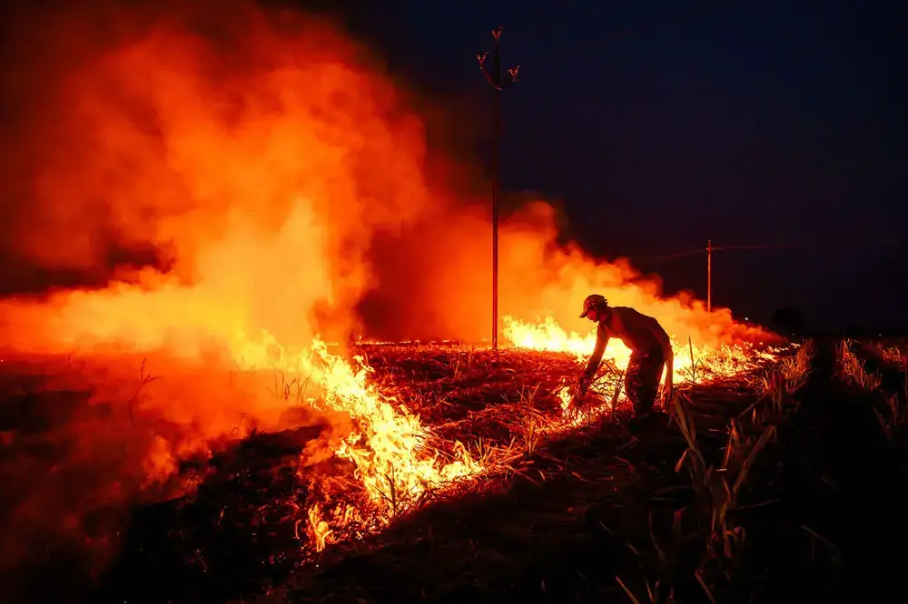
[[[49,270],[103,273],[113,249],[158,266],[32,307],[21,344],[266,329],[304,345],[356,325],[372,233],[430,204],[422,126],[391,84],[311,19],[95,16],[38,33],[44,102],[17,132],[31,179],[7,194],[27,202],[5,240]],[[102,28],[121,42],[92,44]]]

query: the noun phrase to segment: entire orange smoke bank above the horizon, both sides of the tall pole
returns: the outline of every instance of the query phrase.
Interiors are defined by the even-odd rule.
[[[6,162],[19,178],[5,182],[22,202],[6,209],[5,242],[32,265],[113,283],[7,305],[11,343],[194,354],[262,329],[285,346],[488,331],[484,200],[429,177],[422,123],[361,48],[311,18],[249,7],[93,17],[33,41],[44,76],[29,66],[19,103]],[[596,262],[557,235],[542,201],[506,222],[503,313],[583,327],[579,300],[601,290],[677,336],[735,333],[727,312],[660,300],[627,262]],[[118,255],[153,267],[116,268]],[[363,326],[370,292],[386,312]]]

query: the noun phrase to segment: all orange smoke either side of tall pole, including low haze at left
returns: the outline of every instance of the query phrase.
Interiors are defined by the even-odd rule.
[[[23,525],[59,517],[64,485],[82,485],[82,505],[173,494],[162,485],[186,456],[287,424],[284,403],[253,394],[261,380],[232,383],[244,338],[299,348],[489,331],[486,201],[469,167],[429,156],[424,122],[379,63],[305,15],[186,4],[8,24],[0,252],[25,268],[7,271],[6,289],[55,288],[0,303],[5,347],[90,353],[92,367],[141,351],[161,377],[146,383],[129,356],[128,372],[72,378],[65,388],[93,394],[60,428],[65,462],[42,463],[96,480],[22,487],[10,517]],[[559,246],[557,225],[541,200],[506,219],[502,314],[586,330],[578,306],[597,291],[677,337],[742,336],[728,311],[663,299],[627,262]],[[101,345],[113,356],[98,360]],[[64,524],[84,531],[72,505]]]

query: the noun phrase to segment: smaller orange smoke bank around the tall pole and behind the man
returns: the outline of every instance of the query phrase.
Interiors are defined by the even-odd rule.
[[[382,287],[367,312],[395,320],[370,322],[380,338],[489,339],[491,331],[491,229],[489,203],[449,206],[423,216],[402,238],[380,241]],[[660,279],[642,275],[625,258],[591,257],[577,244],[559,242],[564,217],[544,200],[524,203],[508,215],[499,232],[498,308],[502,316],[529,322],[554,318],[569,331],[586,334],[578,318],[591,293],[612,306],[635,307],[656,317],[679,341],[696,345],[772,339],[765,331],[736,324],[727,308],[707,313],[705,305],[682,292],[663,297]],[[410,271],[393,267],[409,258]]]

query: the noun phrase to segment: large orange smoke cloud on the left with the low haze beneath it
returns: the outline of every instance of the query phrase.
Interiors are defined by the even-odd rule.
[[[9,24],[0,252],[26,268],[5,289],[51,288],[0,303],[3,404],[39,418],[0,426],[0,566],[61,541],[103,560],[123,509],[192,488],[187,458],[323,421],[289,417],[271,375],[238,385],[232,346],[360,331],[373,234],[432,205],[423,126],[362,48],[304,15],[185,4]],[[68,353],[78,369],[21,373]]]

